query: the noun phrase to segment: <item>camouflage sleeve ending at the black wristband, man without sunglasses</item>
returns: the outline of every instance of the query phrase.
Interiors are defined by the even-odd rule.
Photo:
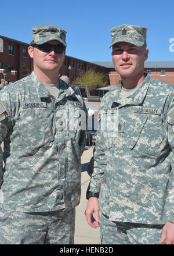
[[[86,198],[99,197],[100,184],[103,179],[103,173],[106,169],[106,151],[104,147],[103,131],[101,130],[101,116],[99,114],[99,126],[96,137],[96,147],[94,153],[94,169],[88,186]]]

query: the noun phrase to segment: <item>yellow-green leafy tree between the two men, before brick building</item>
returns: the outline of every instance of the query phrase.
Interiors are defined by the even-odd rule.
[[[87,86],[88,91],[96,89],[97,87],[103,87],[107,83],[106,74],[96,73],[94,70],[88,70],[80,74],[73,84]]]

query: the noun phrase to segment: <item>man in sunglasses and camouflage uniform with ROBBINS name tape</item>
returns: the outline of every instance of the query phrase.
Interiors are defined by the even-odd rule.
[[[73,244],[87,111],[58,78],[66,31],[32,30],[34,71],[0,94],[0,244]]]

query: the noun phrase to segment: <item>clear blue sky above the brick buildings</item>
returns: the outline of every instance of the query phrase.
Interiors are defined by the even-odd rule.
[[[173,10],[173,0],[8,0],[1,2],[0,35],[30,44],[32,27],[53,24],[67,31],[66,55],[111,61],[111,28],[134,24],[148,28],[147,61],[174,61]]]

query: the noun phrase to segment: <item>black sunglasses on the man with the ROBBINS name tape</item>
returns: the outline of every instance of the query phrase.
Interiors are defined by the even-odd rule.
[[[57,54],[61,54],[66,49],[62,44],[48,44],[48,42],[45,42],[45,44],[31,44],[31,46],[38,48],[42,52],[50,52],[53,48]]]

